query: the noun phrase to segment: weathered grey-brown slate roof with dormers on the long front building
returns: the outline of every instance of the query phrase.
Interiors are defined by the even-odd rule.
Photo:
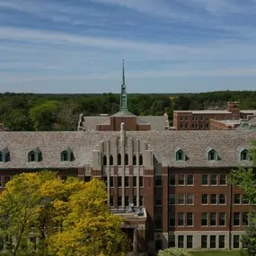
[[[0,148],[8,148],[11,161],[0,163],[0,169],[22,168],[77,168],[92,164],[96,144],[119,136],[119,132],[4,132],[0,133]],[[200,131],[129,131],[128,137],[147,141],[149,149],[159,163],[171,167],[235,167],[238,162],[237,147],[249,148],[256,132],[248,130]],[[29,163],[28,153],[40,148],[42,161]],[[60,153],[70,148],[75,161],[61,162]],[[175,149],[186,152],[188,160],[175,161]],[[211,147],[220,156],[219,161],[207,161],[206,150]]]

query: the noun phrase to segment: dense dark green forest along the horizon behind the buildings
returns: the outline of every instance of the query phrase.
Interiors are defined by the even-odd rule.
[[[169,116],[173,110],[225,109],[240,102],[242,110],[256,110],[256,91],[211,93],[128,94],[128,110],[139,115]],[[76,130],[79,115],[114,114],[119,94],[0,93],[0,123],[9,131]]]

